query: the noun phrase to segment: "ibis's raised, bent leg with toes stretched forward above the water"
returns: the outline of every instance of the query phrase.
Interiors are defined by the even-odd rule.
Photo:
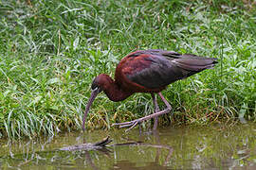
[[[145,117],[141,117],[139,119],[136,119],[136,120],[133,120],[133,121],[130,121],[130,122],[124,122],[124,123],[118,123],[118,124],[113,124],[113,126],[119,126],[119,127],[129,127],[128,129],[126,129],[126,131],[132,129],[133,127],[136,127],[137,126],[137,123],[140,123],[140,122],[143,122],[145,120],[149,120],[149,119],[152,119],[152,118],[155,118],[159,115],[162,115],[162,114],[165,114],[165,113],[168,113],[172,110],[172,107],[171,105],[168,103],[168,101],[164,98],[164,96],[162,95],[162,93],[158,93],[158,95],[161,97],[162,101],[164,102],[164,104],[166,105],[166,109],[165,110],[160,110],[160,111],[157,111],[153,114],[150,114],[150,115],[147,115]]]

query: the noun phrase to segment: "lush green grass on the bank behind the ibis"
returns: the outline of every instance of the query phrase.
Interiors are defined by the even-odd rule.
[[[174,124],[255,120],[255,6],[234,0],[0,1],[0,137],[81,129],[93,77],[114,76],[119,59],[149,48],[220,61],[163,92]],[[109,128],[152,111],[150,94],[113,103],[102,93],[87,127]]]

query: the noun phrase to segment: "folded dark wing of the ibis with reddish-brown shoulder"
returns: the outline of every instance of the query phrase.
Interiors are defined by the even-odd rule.
[[[144,52],[144,53],[143,53]],[[137,55],[127,78],[149,89],[157,89],[214,66],[214,60],[173,51],[146,50]],[[142,57],[143,56],[143,57]]]

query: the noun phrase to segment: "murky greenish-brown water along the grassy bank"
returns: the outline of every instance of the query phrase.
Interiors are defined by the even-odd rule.
[[[103,150],[60,151],[72,144],[95,143],[107,135]],[[155,133],[87,131],[34,141],[0,141],[0,169],[256,169],[256,126],[164,127]]]

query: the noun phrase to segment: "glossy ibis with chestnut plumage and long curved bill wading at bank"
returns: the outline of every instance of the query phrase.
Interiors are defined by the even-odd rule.
[[[127,129],[129,130],[142,121],[155,118],[155,129],[157,127],[157,116],[172,110],[171,105],[164,98],[161,91],[178,79],[212,68],[215,63],[217,63],[217,59],[203,58],[192,54],[179,54],[174,51],[150,49],[133,52],[119,61],[115,80],[105,74],[101,74],[93,80],[91,97],[83,115],[82,129],[84,129],[90,106],[101,91],[115,102],[122,101],[133,93],[151,93],[155,113],[134,121],[114,125],[129,127]],[[165,110],[159,110],[155,93],[158,93],[165,103],[167,107]]]

